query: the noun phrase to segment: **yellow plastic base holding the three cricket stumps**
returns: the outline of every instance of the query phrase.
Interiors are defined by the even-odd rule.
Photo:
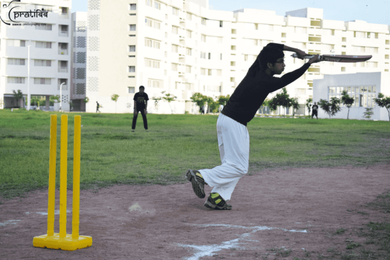
[[[47,247],[51,249],[61,249],[74,251],[92,245],[92,237],[78,236],[78,239],[72,239],[72,234],[66,234],[65,238],[60,238],[59,233],[54,233],[54,236],[42,235],[34,237],[33,245],[35,247]]]

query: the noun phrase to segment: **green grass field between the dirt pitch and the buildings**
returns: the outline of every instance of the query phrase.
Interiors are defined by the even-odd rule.
[[[0,110],[0,197],[46,188],[50,114]],[[57,185],[59,185],[58,114]],[[73,121],[68,118],[68,187],[72,189]],[[186,181],[189,169],[220,164],[215,115],[81,114],[81,188]],[[254,118],[249,174],[265,168],[364,166],[390,162],[390,123],[367,120]]]

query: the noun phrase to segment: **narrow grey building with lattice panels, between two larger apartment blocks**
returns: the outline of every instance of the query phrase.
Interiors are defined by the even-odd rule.
[[[87,69],[87,12],[72,14],[72,61],[70,97],[73,111],[85,111]]]

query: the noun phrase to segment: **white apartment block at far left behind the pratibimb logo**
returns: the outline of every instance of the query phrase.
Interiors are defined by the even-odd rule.
[[[47,110],[50,96],[62,92],[62,109],[69,111],[71,1],[10,2],[1,1],[0,108],[18,106],[13,90],[20,90],[46,96]]]

